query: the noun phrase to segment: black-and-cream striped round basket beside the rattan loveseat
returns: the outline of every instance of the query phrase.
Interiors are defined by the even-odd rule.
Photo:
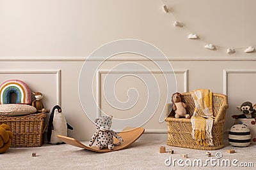
[[[228,134],[228,141],[232,146],[249,146],[251,138],[250,129],[242,124],[233,125]]]

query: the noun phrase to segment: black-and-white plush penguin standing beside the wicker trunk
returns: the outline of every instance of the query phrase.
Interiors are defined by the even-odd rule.
[[[49,118],[47,141],[51,144],[63,143],[57,136],[67,136],[67,129],[73,130],[73,127],[67,124],[64,115],[61,113],[60,106],[56,105],[52,108],[52,113]]]

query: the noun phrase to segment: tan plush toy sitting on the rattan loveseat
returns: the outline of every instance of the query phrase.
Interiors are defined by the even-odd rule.
[[[187,105],[181,101],[180,93],[175,93],[172,95],[173,110],[175,111],[175,118],[185,117],[190,118],[187,114]]]

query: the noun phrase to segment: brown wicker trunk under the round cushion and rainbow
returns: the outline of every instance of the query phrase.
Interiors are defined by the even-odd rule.
[[[13,132],[12,147],[36,147],[44,144],[46,113],[19,117],[0,116],[0,125],[10,125]]]

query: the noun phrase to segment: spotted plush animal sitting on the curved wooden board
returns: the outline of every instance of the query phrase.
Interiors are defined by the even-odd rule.
[[[95,125],[97,127],[97,132],[95,132],[92,139],[90,139],[89,146],[92,146],[96,139],[97,148],[109,148],[109,150],[113,150],[116,145],[120,145],[121,142],[124,141],[115,131],[110,130],[112,118],[111,115],[108,117],[96,118]],[[113,136],[119,140],[118,143],[113,143]]]

